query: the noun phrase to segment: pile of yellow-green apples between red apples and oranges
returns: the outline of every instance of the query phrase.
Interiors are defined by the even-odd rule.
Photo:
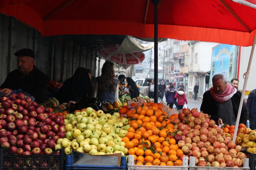
[[[58,139],[55,149],[65,148],[66,155],[71,154],[71,149],[91,155],[128,153],[122,141],[128,119],[121,118],[117,112],[111,115],[87,107],[67,114],[65,124],[66,135]]]

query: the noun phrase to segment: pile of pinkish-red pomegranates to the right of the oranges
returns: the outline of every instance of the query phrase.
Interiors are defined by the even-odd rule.
[[[247,158],[242,147],[231,141],[230,134],[196,108],[183,109],[172,123],[179,148],[184,155],[194,156],[197,166],[242,167]]]

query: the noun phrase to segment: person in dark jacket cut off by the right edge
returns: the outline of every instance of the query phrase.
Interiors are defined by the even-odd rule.
[[[249,112],[250,128],[256,129],[256,89],[250,92],[246,106]]]

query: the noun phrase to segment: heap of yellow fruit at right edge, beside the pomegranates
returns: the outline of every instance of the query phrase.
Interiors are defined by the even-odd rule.
[[[247,147],[247,151],[256,154],[256,131],[245,126],[238,127],[236,144]]]

